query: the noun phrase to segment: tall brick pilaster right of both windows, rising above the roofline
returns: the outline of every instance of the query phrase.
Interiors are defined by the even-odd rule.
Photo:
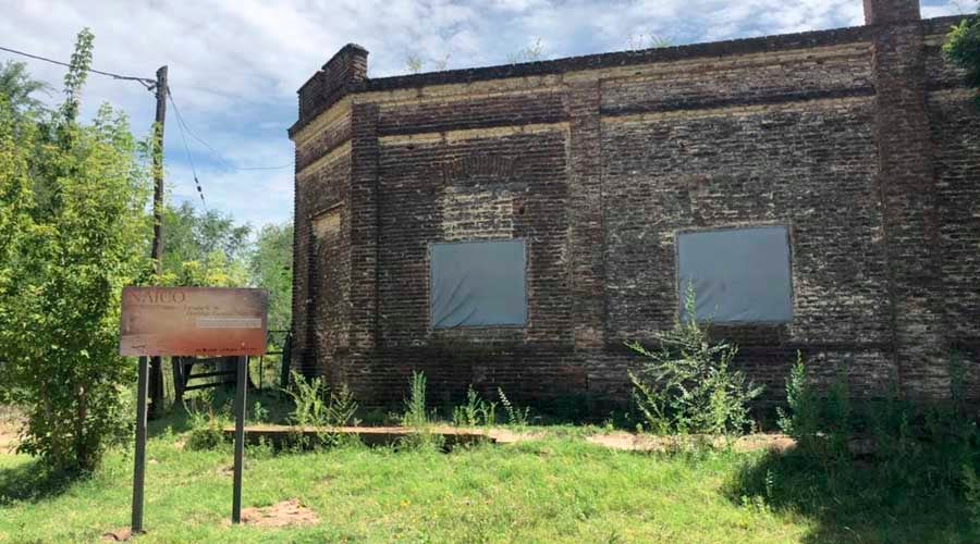
[[[875,133],[895,361],[903,392],[941,398],[948,391],[948,373],[919,4],[866,0],[865,12],[874,27]]]

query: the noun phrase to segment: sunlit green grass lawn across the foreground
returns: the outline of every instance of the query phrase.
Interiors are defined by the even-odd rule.
[[[230,448],[183,450],[184,435],[162,432],[148,446],[138,542],[977,542],[954,497],[855,489],[838,504],[822,497],[826,482],[783,459],[640,455],[564,434],[451,454],[253,448],[245,506],[297,498],[320,518],[259,529],[226,524]],[[767,485],[770,473],[780,480]],[[0,542],[94,542],[128,526],[124,452],[83,481],[40,474],[27,457],[0,455]]]

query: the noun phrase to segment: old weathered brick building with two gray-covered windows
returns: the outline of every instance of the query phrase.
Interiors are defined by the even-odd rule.
[[[855,0],[857,1],[857,0]],[[959,17],[367,77],[298,91],[294,364],[399,401],[468,384],[625,399],[695,281],[781,395],[803,350],[853,391],[980,394],[980,115],[941,46]]]

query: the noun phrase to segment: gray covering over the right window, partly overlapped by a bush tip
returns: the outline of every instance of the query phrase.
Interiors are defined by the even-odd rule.
[[[677,236],[681,318],[690,282],[698,321],[786,323],[793,319],[789,236],[784,226]]]

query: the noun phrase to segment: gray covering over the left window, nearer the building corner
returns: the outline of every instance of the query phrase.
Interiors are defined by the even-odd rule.
[[[524,240],[432,244],[429,304],[432,326],[527,323]]]

